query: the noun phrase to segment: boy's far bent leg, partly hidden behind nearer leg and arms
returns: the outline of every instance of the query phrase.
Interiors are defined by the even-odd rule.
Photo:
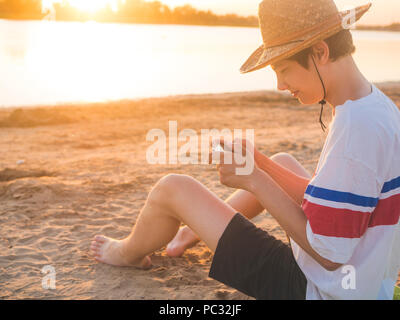
[[[279,163],[281,166],[291,170],[297,175],[311,178],[310,174],[300,162],[288,153],[277,153],[271,157],[271,160]],[[225,202],[231,206],[235,212],[240,212],[249,220],[256,217],[264,210],[254,195],[245,190],[236,190]],[[167,245],[167,254],[171,257],[181,256],[186,249],[196,245],[199,241],[200,238],[196,233],[188,226],[184,226]]]

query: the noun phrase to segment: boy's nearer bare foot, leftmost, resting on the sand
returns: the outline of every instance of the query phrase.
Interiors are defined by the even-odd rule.
[[[151,259],[146,256],[139,261],[132,261],[123,253],[123,240],[116,240],[105,236],[95,236],[90,250],[94,258],[106,264],[118,267],[151,268]]]

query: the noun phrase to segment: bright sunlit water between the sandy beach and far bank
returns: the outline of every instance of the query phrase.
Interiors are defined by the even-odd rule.
[[[352,31],[371,81],[400,80],[400,33]],[[276,88],[242,75],[257,28],[0,20],[0,107]]]

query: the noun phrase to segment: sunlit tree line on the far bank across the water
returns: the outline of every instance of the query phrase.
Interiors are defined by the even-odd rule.
[[[258,27],[257,16],[237,14],[216,15],[210,10],[201,11],[186,4],[170,9],[160,1],[118,0],[117,10],[110,5],[94,12],[83,12],[68,1],[54,3],[53,10],[42,9],[42,0],[0,0],[0,19],[41,20],[51,18],[59,21],[97,21],[119,23],[224,25]],[[357,30],[400,31],[400,23],[388,26],[357,26]]]

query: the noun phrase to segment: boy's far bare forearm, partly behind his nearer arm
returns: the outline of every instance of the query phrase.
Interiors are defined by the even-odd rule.
[[[297,204],[301,205],[310,179],[298,176],[257,150],[254,151],[254,160],[261,170],[274,179]]]

